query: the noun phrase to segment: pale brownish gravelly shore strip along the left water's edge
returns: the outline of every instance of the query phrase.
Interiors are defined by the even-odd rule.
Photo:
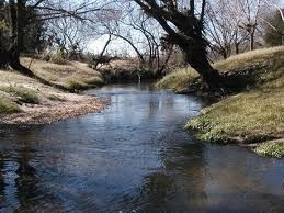
[[[53,122],[99,113],[109,100],[80,94],[65,94],[65,101],[49,101],[41,104],[23,104],[21,112],[1,114],[0,124],[50,124]]]

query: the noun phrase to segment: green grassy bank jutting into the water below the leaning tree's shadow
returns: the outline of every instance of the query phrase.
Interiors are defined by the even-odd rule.
[[[203,110],[186,127],[212,143],[262,142],[284,132],[284,90],[250,91],[229,97]]]

